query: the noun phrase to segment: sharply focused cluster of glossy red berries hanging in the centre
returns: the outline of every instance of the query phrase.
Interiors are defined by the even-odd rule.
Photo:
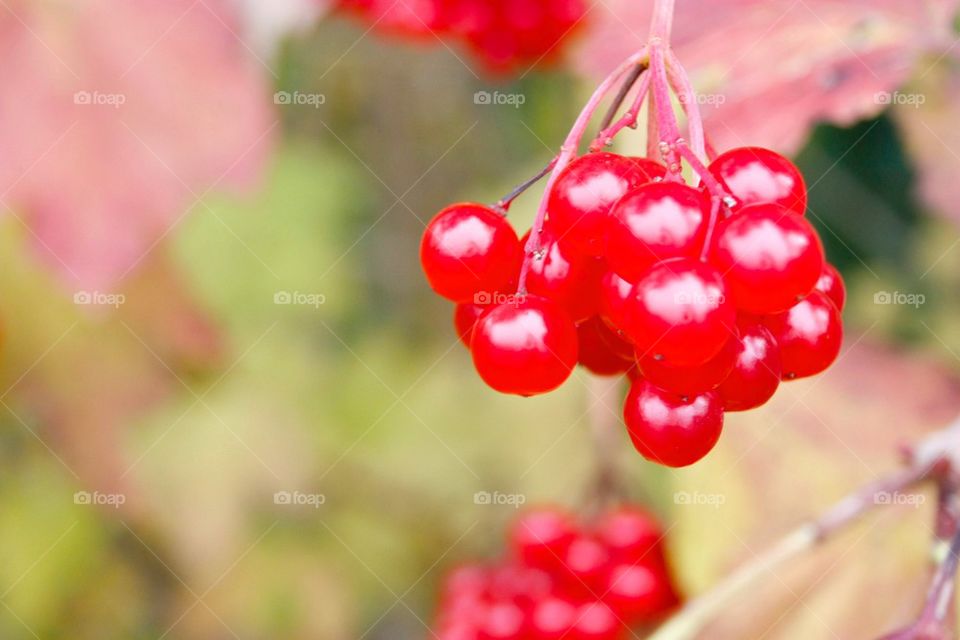
[[[480,377],[524,396],[573,367],[628,374],[624,419],[637,450],[669,466],[716,444],[725,411],[764,404],[781,380],[837,357],[845,290],[806,220],[806,186],[762,148],[709,166],[727,194],[646,158],[593,152],[558,175],[539,251],[503,211],[456,204],[427,226],[420,258]],[[517,291],[518,284],[523,291]]]

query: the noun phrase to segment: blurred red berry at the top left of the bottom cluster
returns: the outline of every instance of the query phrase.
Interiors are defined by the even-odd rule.
[[[530,567],[561,566],[577,535],[577,526],[564,511],[540,508],[522,514],[510,529],[510,544]]]

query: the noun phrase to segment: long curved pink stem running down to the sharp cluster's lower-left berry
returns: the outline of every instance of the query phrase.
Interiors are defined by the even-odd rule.
[[[550,177],[547,179],[547,186],[544,188],[543,197],[540,199],[540,207],[537,209],[537,215],[533,220],[533,227],[530,229],[530,238],[524,247],[525,255],[523,266],[520,268],[520,278],[517,283],[518,294],[526,294],[527,273],[530,271],[531,262],[536,259],[537,254],[540,252],[540,235],[543,231],[543,222],[547,217],[547,200],[550,197],[553,186],[557,182],[557,177],[560,175],[560,172],[570,164],[570,161],[576,157],[577,150],[580,148],[580,141],[583,139],[583,134],[590,124],[590,119],[593,117],[593,114],[603,102],[603,99],[613,90],[620,78],[623,77],[631,67],[643,61],[646,56],[647,48],[644,47],[620,63],[620,66],[600,83],[600,86],[593,92],[590,100],[587,101],[586,106],[584,106],[580,112],[576,122],[573,123],[573,128],[570,129],[567,139],[560,148],[560,154],[557,156],[557,161],[553,165],[553,171],[550,172]]]

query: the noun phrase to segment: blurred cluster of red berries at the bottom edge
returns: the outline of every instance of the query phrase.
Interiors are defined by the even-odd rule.
[[[439,640],[624,640],[677,603],[656,520],[635,507],[581,527],[564,511],[530,511],[507,557],[464,565],[443,584]]]

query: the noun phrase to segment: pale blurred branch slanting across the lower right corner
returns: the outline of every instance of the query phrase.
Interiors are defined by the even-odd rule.
[[[931,479],[938,481],[944,478],[955,479],[958,469],[960,469],[960,418],[918,443],[912,449],[906,468],[864,485],[836,502],[821,516],[800,525],[708,592],[690,600],[648,640],[694,640],[711,620],[723,614],[733,603],[741,599],[743,593],[761,576],[769,575],[785,561],[816,548],[878,506],[892,503],[893,500],[890,499],[892,496],[914,489]],[[942,568],[939,574],[949,573],[952,576],[956,570],[956,552],[960,549],[955,547],[954,543],[960,544],[955,536],[952,538],[947,557],[949,564]],[[931,589],[936,602],[940,601],[939,594],[942,591],[937,587],[938,584],[940,583],[935,582]],[[953,589],[952,582],[949,588]],[[889,636],[887,640],[919,637],[925,636],[895,634]]]

